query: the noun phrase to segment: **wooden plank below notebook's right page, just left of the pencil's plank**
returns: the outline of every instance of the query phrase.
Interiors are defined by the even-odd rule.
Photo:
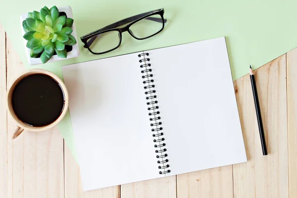
[[[178,198],[231,198],[232,165],[177,176]]]

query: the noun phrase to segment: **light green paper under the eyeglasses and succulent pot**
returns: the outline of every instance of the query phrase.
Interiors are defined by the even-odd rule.
[[[150,39],[138,41],[126,32],[121,47],[103,55],[91,54],[78,41],[78,58],[35,66],[59,77],[60,66],[65,64],[225,36],[233,79],[237,80],[247,74],[249,64],[258,68],[297,47],[296,0],[51,0],[50,4],[0,0],[0,4],[0,22],[28,69],[32,67],[28,66],[19,25],[23,13],[39,11],[45,5],[70,5],[78,36],[83,36],[125,17],[164,7],[165,29]],[[76,156],[70,117],[58,126]]]

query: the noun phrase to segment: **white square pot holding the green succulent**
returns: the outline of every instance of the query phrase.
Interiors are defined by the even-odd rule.
[[[62,6],[62,7],[57,7],[59,12],[65,12],[67,15],[67,18],[72,18],[73,19],[73,13],[72,13],[72,9],[70,6]],[[33,11],[33,10],[32,10]],[[20,16],[20,20],[21,20],[21,28],[22,28],[22,36],[25,35],[25,31],[23,29],[23,21],[28,17],[28,13],[26,14],[22,14]],[[49,59],[48,62],[54,62],[54,61],[58,61],[58,60],[65,60],[65,59],[69,59],[69,58],[74,58],[79,56],[79,47],[78,47],[78,40],[77,40],[77,33],[76,33],[76,28],[75,28],[75,21],[73,22],[72,25],[72,30],[73,32],[71,33],[71,35],[76,39],[76,44],[72,46],[72,50],[67,52],[67,58],[60,58],[58,57],[58,55],[53,55],[51,56],[51,58]],[[26,54],[27,54],[27,58],[28,58],[28,62],[30,65],[36,65],[36,64],[42,64],[42,61],[40,58],[31,58],[30,57],[30,49],[27,48],[27,40],[24,40],[24,47],[26,50]]]

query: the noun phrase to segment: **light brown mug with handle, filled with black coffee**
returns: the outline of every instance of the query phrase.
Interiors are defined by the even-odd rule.
[[[55,74],[44,69],[31,69],[21,74],[8,90],[7,108],[17,123],[12,139],[24,130],[46,131],[65,116],[68,92]]]

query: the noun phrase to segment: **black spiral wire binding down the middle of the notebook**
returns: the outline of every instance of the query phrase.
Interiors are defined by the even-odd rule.
[[[149,121],[151,121],[150,126],[152,127],[151,131],[153,132],[152,137],[155,138],[153,139],[153,142],[155,143],[154,147],[157,148],[155,152],[158,153],[156,155],[156,158],[159,159],[157,160],[157,163],[160,164],[158,169],[162,169],[162,171],[159,171],[159,174],[166,174],[170,173],[171,171],[168,164],[169,160],[167,159],[168,154],[165,153],[167,149],[164,148],[166,146],[164,143],[165,138],[163,137],[164,133],[161,132],[163,127],[161,127],[161,116],[159,116],[160,111],[158,110],[159,106],[157,105],[158,100],[156,100],[157,95],[155,95],[155,85],[153,84],[153,74],[151,73],[152,69],[150,68],[151,64],[149,63],[150,58],[148,56],[148,52],[138,54],[138,57],[141,58],[139,62],[143,63],[140,65],[140,68],[142,68],[141,73],[143,74],[142,79],[144,79],[143,84],[145,85],[144,89],[146,90],[145,95],[146,99],[148,100],[147,105],[149,105],[148,115],[151,116]]]

